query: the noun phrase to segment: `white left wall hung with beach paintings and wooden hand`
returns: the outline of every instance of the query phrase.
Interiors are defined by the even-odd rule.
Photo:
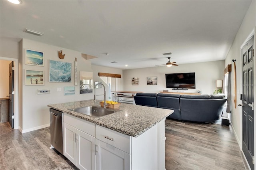
[[[44,52],[44,66],[25,65],[25,49]],[[65,54],[64,59],[58,58],[58,51]],[[78,51],[56,47],[32,40],[22,40],[22,132],[49,126],[50,115],[48,104],[63,103],[93,99],[93,93],[80,94],[79,81],[75,86],[75,95],[64,95],[64,86],[74,86],[74,61],[77,58],[78,77],[79,71],[92,72],[91,62],[82,57]],[[50,83],[49,82],[49,60],[64,61],[72,63],[71,83]],[[44,85],[25,85],[25,69],[44,71]],[[79,79],[79,78],[78,78]],[[61,91],[57,91],[61,88]],[[50,94],[37,94],[38,89],[50,89]]]

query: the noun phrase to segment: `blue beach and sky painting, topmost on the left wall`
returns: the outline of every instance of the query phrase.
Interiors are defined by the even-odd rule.
[[[44,66],[44,53],[26,49],[26,65]]]

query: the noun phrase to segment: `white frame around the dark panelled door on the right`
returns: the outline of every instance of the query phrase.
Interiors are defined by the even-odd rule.
[[[241,71],[243,70],[242,69],[242,48],[244,47],[244,45],[250,40],[250,38],[252,38],[252,36],[254,36],[254,47],[253,47],[253,49],[255,49],[255,44],[256,44],[256,38],[255,38],[255,29],[253,29],[252,30],[252,32],[249,34],[249,36],[246,38],[246,40],[242,43],[242,45],[240,46],[240,56],[239,56],[239,60],[240,60],[240,69],[241,69]],[[256,75],[256,59],[255,59],[255,57],[256,57],[256,53],[255,53],[255,50],[254,50],[254,62],[253,62],[253,74],[254,74],[254,77],[255,77],[255,75]],[[242,93],[242,74],[240,75],[240,94]],[[254,85],[256,85],[256,79],[254,79]],[[256,88],[254,87],[254,89],[253,89],[253,91],[254,91],[254,100],[255,100],[255,96],[256,96]],[[254,102],[254,111],[253,111],[253,114],[255,115],[255,113],[256,113],[256,111],[255,111],[255,109],[256,109],[256,104],[255,104],[256,102]],[[250,167],[249,166],[249,164],[248,164],[248,162],[247,162],[247,160],[246,160],[246,157],[245,157],[245,155],[244,155],[244,152],[243,152],[243,149],[242,149],[242,141],[243,141],[243,135],[242,135],[242,129],[243,129],[243,122],[242,122],[242,107],[240,107],[240,110],[239,110],[239,113],[241,113],[240,114],[240,129],[241,129],[241,131],[240,131],[240,133],[241,133],[241,135],[240,135],[240,143],[239,143],[239,146],[240,146],[240,150],[242,151],[242,154],[243,154],[243,156],[244,156],[244,160],[246,161],[246,164],[247,164],[247,166],[248,167]],[[254,117],[254,154],[256,153],[256,140],[255,140],[255,137],[256,137],[256,119],[255,119],[255,117]],[[254,155],[255,156],[255,155]],[[256,169],[256,164],[254,163],[254,169]]]

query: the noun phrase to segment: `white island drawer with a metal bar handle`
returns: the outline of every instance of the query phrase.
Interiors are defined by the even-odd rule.
[[[96,138],[130,154],[131,136],[96,125]]]

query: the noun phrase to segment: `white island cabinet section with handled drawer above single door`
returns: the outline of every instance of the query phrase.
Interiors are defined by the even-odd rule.
[[[131,136],[96,125],[96,170],[129,170]]]

